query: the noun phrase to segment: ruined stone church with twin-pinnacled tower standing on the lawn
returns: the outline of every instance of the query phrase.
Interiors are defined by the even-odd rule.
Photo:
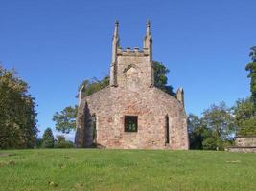
[[[78,147],[188,149],[184,93],[170,96],[154,86],[152,37],[147,23],[143,49],[120,46],[118,22],[112,39],[110,84],[79,95]]]

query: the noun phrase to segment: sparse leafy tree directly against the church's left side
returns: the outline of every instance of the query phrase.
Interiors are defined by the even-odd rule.
[[[55,113],[53,120],[56,122],[56,130],[68,134],[72,130],[76,129],[76,117],[78,112],[78,106],[68,106],[64,108],[60,113]]]

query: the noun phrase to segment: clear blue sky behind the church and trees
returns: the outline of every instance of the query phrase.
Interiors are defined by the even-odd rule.
[[[187,113],[249,96],[244,66],[256,45],[255,0],[1,0],[0,61],[30,84],[39,129],[77,103],[85,78],[109,72],[114,22],[122,47],[142,47],[151,20],[153,59],[185,90]]]

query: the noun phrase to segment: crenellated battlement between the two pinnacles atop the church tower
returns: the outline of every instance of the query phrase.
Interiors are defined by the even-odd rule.
[[[136,57],[144,57],[149,56],[150,51],[148,48],[143,48],[140,50],[138,47],[134,47],[134,49],[130,49],[127,47],[123,49],[122,47],[117,48],[117,56],[136,56]]]

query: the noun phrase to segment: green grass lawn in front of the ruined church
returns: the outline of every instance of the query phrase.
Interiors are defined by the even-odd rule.
[[[0,190],[256,190],[256,155],[52,149],[0,153]]]

